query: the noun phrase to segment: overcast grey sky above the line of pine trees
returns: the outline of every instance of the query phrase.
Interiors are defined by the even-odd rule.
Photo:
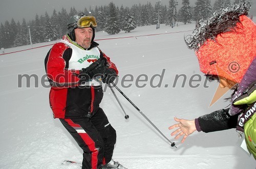
[[[65,8],[67,12],[70,12],[71,7],[75,7],[76,10],[82,10],[84,7],[89,9],[91,6],[92,9],[95,9],[95,6],[108,5],[110,2],[113,2],[116,6],[121,7],[131,7],[134,4],[146,4],[147,2],[151,2],[153,7],[156,2],[159,0],[1,0],[0,2],[0,22],[4,24],[6,20],[9,22],[13,18],[15,22],[19,21],[22,23],[22,19],[25,18],[28,22],[35,18],[36,13],[40,15],[44,15],[47,11],[51,16],[53,9],[57,12],[61,10],[61,8]],[[194,6],[196,0],[190,0],[190,5]],[[211,0],[214,3],[216,0]],[[161,0],[163,5],[168,5],[169,0]],[[182,0],[177,0],[178,8],[181,7]],[[231,0],[231,2],[233,2]],[[256,15],[256,0],[252,0],[252,8],[250,12],[253,12],[253,15]]]

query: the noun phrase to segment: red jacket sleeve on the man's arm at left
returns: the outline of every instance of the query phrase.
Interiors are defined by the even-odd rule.
[[[68,70],[63,54],[69,48],[65,43],[56,43],[48,52],[46,72],[53,88],[71,88],[79,85],[79,70]]]

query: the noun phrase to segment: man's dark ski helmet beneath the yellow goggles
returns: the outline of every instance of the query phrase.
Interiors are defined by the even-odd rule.
[[[75,36],[75,31],[74,30],[77,29],[77,21],[83,16],[87,16],[87,15],[84,14],[84,13],[79,13],[79,14],[71,16],[69,18],[69,21],[68,21],[68,36],[74,42],[76,41],[76,36]],[[93,29],[93,37],[92,37],[92,41],[91,41],[91,43],[92,43],[93,40],[94,40],[94,37],[95,37],[95,29],[92,25],[90,27],[92,27],[92,29]]]

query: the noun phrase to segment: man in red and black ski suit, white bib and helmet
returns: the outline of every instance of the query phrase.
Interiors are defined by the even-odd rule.
[[[125,168],[112,159],[116,131],[99,104],[102,82],[112,83],[118,70],[94,42],[96,19],[84,13],[68,21],[68,34],[47,53],[54,118],[83,150],[82,168]]]

